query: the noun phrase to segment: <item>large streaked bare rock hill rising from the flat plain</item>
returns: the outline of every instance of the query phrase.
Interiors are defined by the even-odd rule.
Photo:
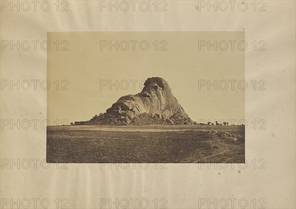
[[[87,124],[114,124],[115,121],[129,124],[141,120],[144,116],[155,118],[160,123],[193,123],[163,78],[148,78],[144,86],[141,93],[119,98],[106,113],[91,119]]]

